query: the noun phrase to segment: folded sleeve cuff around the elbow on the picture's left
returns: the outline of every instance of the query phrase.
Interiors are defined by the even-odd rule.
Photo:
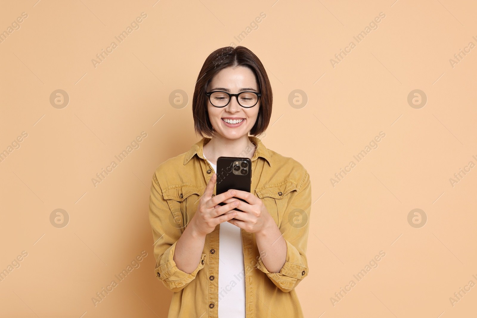
[[[175,242],[169,246],[161,257],[159,264],[156,267],[156,277],[164,284],[167,284],[169,288],[183,287],[187,285],[197,275],[197,272],[202,269],[207,259],[207,254],[202,254],[197,268],[192,273],[186,273],[176,266],[174,261],[174,251],[176,250]]]

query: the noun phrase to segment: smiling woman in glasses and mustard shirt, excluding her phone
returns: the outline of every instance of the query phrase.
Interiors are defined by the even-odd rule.
[[[256,137],[271,107],[267,73],[249,49],[207,57],[192,104],[202,139],[160,164],[151,186],[155,275],[174,292],[169,318],[303,317],[294,288],[308,275],[311,182]],[[251,193],[215,195],[220,156],[250,158]]]

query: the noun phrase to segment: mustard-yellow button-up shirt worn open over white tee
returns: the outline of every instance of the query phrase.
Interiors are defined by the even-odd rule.
[[[259,138],[249,136],[249,140],[256,144],[250,192],[263,201],[279,227],[287,255],[280,272],[270,273],[259,255],[255,234],[240,229],[246,318],[302,318],[294,288],[308,275],[310,175],[296,160],[267,149]],[[203,154],[203,145],[209,141],[204,137],[188,152],[166,160],[152,178],[149,221],[155,242],[155,276],[174,292],[168,318],[218,318],[218,279],[214,278],[218,278],[220,226],[207,234],[201,260],[192,273],[178,269],[173,259],[176,242],[196,213],[213,173]],[[253,149],[237,156],[246,157],[250,151]]]

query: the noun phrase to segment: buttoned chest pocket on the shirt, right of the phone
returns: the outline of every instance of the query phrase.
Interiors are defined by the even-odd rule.
[[[290,196],[296,190],[296,182],[287,179],[278,184],[265,185],[256,189],[255,192],[262,199],[277,226],[280,227]]]

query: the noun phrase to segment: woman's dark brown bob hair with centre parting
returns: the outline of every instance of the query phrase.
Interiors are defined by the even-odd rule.
[[[257,121],[249,133],[253,136],[258,136],[265,132],[270,123],[273,95],[270,81],[262,62],[260,62],[259,58],[252,51],[244,46],[237,46],[235,48],[226,46],[213,51],[207,56],[197,76],[194,97],[192,99],[195,132],[202,137],[205,135],[212,136],[214,128],[210,123],[207,110],[207,85],[215,74],[228,66],[245,66],[255,74],[255,79],[259,85],[259,92],[261,93],[260,109],[257,115]]]

